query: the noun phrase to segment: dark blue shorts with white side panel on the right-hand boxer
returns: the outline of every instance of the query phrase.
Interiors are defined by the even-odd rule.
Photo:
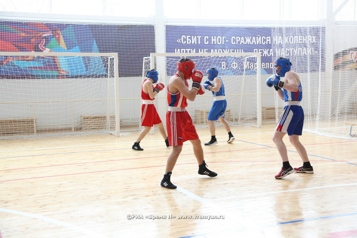
[[[304,111],[300,105],[286,105],[275,130],[291,135],[302,135]]]

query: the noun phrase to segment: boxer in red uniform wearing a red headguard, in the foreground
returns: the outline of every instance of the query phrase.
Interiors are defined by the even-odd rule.
[[[172,184],[170,178],[177,158],[182,151],[183,142],[189,140],[193,146],[193,153],[198,162],[198,174],[216,177],[217,173],[207,168],[203,158],[201,140],[198,138],[196,128],[192,119],[186,111],[187,99],[194,101],[197,94],[202,94],[201,81],[203,74],[195,70],[195,62],[188,58],[182,58],[177,62],[177,72],[171,77],[167,85],[167,102],[169,110],[166,113],[166,129],[169,137],[172,152],[167,158],[166,171],[161,181],[161,186],[175,189],[177,186]],[[192,78],[192,88],[188,89],[187,80]],[[204,91],[203,91],[204,92]]]

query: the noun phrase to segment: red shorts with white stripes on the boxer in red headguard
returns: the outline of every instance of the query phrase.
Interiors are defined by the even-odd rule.
[[[198,139],[196,128],[187,111],[168,111],[166,128],[170,146],[182,146],[185,141]]]

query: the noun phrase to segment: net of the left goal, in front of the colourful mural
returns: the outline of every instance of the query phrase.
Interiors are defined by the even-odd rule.
[[[119,136],[117,54],[1,52],[0,139]]]

